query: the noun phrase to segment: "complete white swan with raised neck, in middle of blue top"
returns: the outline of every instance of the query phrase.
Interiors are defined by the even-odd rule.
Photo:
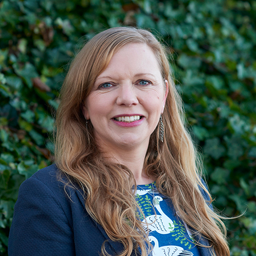
[[[146,219],[142,221],[143,223],[148,224],[148,226],[144,227],[145,231],[157,231],[160,234],[168,234],[174,229],[175,226],[173,221],[162,211],[160,207],[161,201],[163,201],[163,199],[160,196],[155,196],[153,198],[153,205],[161,215],[151,215],[146,217]]]

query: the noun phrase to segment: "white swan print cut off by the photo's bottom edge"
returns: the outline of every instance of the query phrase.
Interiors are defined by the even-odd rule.
[[[166,245],[166,246],[159,247],[158,240],[153,236],[148,237],[148,239],[150,240],[150,242],[155,243],[154,249],[152,251],[153,255],[157,255],[157,256],[193,256],[194,255],[193,252],[184,250],[182,247],[176,246],[176,245]]]

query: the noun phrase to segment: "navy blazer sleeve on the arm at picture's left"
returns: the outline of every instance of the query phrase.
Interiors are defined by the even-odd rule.
[[[63,208],[50,187],[33,177],[26,180],[14,207],[9,256],[75,255],[71,220]]]

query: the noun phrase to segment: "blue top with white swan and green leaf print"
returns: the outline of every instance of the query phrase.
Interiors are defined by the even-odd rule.
[[[137,186],[138,216],[149,233],[153,256],[200,256],[186,226],[175,213],[170,199],[160,194],[155,183]]]

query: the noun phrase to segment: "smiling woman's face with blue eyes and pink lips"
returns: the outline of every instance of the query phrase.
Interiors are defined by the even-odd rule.
[[[128,44],[116,52],[97,77],[83,114],[93,125],[105,152],[145,146],[163,112],[168,93],[154,52],[145,44]]]

